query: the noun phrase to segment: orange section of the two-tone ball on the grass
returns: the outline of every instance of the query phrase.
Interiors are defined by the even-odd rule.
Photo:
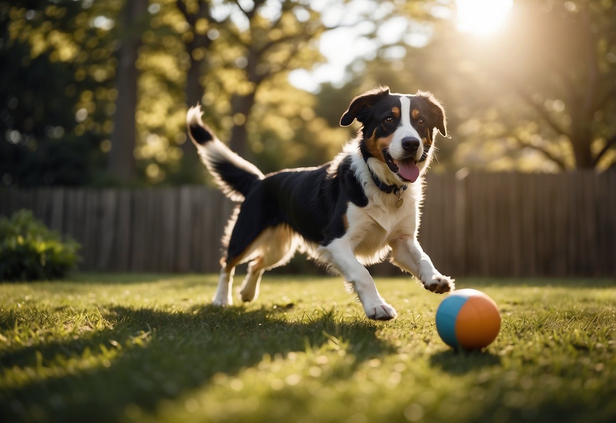
[[[500,331],[498,306],[492,298],[481,294],[469,297],[456,318],[456,339],[464,350],[487,347]]]

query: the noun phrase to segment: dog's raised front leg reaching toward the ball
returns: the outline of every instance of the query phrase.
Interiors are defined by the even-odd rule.
[[[418,240],[399,237],[389,245],[392,248],[391,262],[400,269],[410,272],[424,285],[424,288],[442,294],[453,291],[455,285],[449,276],[443,276],[434,268],[428,254],[424,253]]]

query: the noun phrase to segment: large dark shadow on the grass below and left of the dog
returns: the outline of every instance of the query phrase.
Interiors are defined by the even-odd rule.
[[[0,388],[0,421],[118,421],[131,405],[152,411],[160,400],[206,387],[217,373],[233,376],[264,355],[318,349],[332,337],[344,340],[352,368],[395,351],[376,337],[374,322],[342,322],[328,312],[290,321],[241,307],[109,310],[104,317],[113,327],[0,355],[2,368],[37,374]]]

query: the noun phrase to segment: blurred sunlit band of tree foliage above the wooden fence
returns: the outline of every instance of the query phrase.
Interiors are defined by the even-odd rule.
[[[349,101],[378,84],[444,102],[452,140],[439,140],[435,171],[616,163],[614,0],[519,0],[508,24],[483,37],[456,29],[453,1],[373,1],[361,14],[347,0],[322,11],[308,0],[157,0],[132,25],[126,4],[0,0],[0,62],[10,64],[0,78],[3,184],[201,183],[185,136],[196,102],[219,137],[263,170],[318,165],[357,129],[338,127]],[[336,14],[349,20],[331,23]],[[397,37],[392,18],[407,19]],[[352,41],[368,46],[347,83],[317,94],[294,88],[288,74],[323,62],[320,36],[336,25],[363,28]],[[126,101],[118,47],[131,38],[141,45],[131,84],[137,136],[124,149],[137,175],[128,181],[106,162],[118,151],[114,128],[124,128],[115,125]]]

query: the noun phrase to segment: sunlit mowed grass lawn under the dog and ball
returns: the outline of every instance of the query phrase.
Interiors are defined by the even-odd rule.
[[[0,285],[0,421],[616,421],[614,280],[459,279],[503,324],[456,353],[434,324],[444,297],[410,277],[378,278],[389,322],[336,277],[266,274],[225,309],[216,279]]]

